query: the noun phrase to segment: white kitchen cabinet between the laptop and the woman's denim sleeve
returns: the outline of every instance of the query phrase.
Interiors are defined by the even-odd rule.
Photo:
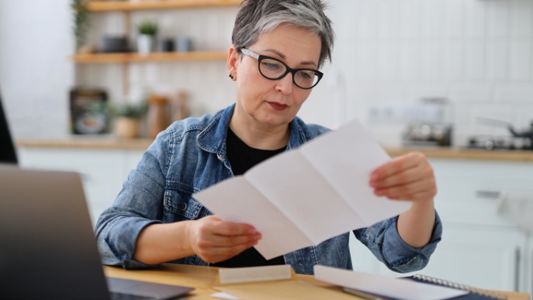
[[[19,147],[21,167],[78,172],[82,175],[93,224],[117,197],[144,151],[130,149]]]

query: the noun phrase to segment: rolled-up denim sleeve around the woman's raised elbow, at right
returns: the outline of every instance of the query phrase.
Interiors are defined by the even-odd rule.
[[[442,236],[442,222],[435,212],[435,224],[430,242],[421,248],[409,246],[400,238],[398,217],[392,217],[353,233],[372,251],[374,256],[394,272],[407,273],[423,269],[437,248]]]

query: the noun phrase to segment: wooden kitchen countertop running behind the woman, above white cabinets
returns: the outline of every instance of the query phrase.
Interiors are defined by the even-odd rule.
[[[61,139],[17,140],[17,147],[26,148],[85,148],[141,150],[148,148],[151,139],[118,139],[112,136],[101,138],[71,136]],[[419,151],[428,158],[450,158],[467,160],[508,160],[533,162],[533,151],[482,150],[449,147],[385,147],[390,156],[401,156]]]

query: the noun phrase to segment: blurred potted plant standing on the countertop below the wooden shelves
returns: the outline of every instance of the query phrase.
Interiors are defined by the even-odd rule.
[[[140,119],[146,115],[147,109],[146,101],[111,106],[111,113],[115,116],[115,135],[118,138],[138,138]]]

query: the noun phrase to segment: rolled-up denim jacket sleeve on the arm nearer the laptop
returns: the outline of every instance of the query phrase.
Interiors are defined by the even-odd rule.
[[[133,260],[137,238],[151,224],[161,223],[164,197],[164,153],[152,144],[130,172],[117,199],[96,222],[96,241],[105,265],[126,269],[152,267]]]

